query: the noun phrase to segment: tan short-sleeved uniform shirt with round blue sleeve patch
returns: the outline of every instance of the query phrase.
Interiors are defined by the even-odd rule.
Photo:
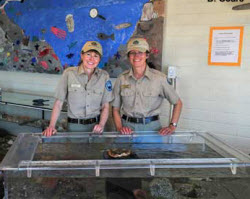
[[[93,118],[100,114],[102,105],[112,100],[109,74],[96,68],[90,81],[82,67],[66,69],[57,86],[55,98],[68,101],[68,117]]]

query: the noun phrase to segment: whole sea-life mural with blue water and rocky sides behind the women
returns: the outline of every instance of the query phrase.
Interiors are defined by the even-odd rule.
[[[164,1],[2,0],[0,40],[7,42],[3,47],[5,56],[0,53],[4,64],[0,70],[13,71],[13,65],[23,65],[16,68],[24,72],[62,73],[65,66],[78,64],[86,41],[97,40],[104,52],[99,67],[108,72],[122,72],[129,67],[124,47],[132,36],[148,39],[150,46],[153,43],[152,58],[161,64],[162,36],[154,35],[157,42],[151,36],[152,32],[161,32],[162,27],[159,31],[158,26],[148,24],[158,20],[157,16],[162,17],[162,11],[156,13],[154,4],[162,9]],[[162,26],[162,20],[159,24]],[[18,50],[19,54],[11,50]],[[9,58],[7,52],[11,53]]]

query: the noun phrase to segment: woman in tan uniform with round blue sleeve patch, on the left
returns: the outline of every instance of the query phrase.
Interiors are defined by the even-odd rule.
[[[112,99],[112,84],[108,73],[97,68],[101,56],[101,44],[88,41],[82,47],[78,67],[64,71],[56,89],[50,124],[44,135],[56,133],[56,122],[65,99],[68,104],[68,131],[103,132]]]

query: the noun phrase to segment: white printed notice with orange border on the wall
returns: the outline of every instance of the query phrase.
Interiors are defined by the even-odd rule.
[[[208,65],[240,66],[243,27],[211,27]]]

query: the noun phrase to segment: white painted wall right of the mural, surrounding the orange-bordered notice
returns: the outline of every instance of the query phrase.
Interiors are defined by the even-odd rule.
[[[249,143],[250,10],[233,11],[239,4],[168,0],[163,66],[177,66],[177,89],[184,103],[180,128],[210,131],[231,142],[237,137],[237,142]],[[211,26],[244,26],[240,67],[207,64]]]

